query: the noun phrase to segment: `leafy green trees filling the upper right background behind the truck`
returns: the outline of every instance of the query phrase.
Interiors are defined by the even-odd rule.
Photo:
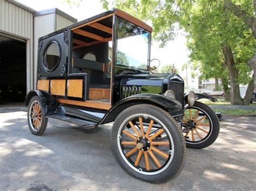
[[[105,8],[110,6],[107,0],[101,1]],[[161,46],[175,37],[179,23],[188,32],[191,67],[199,69],[203,79],[223,79],[224,89],[231,86],[231,102],[243,104],[239,84],[249,84],[252,91],[255,73],[254,4],[252,0],[114,0],[111,6],[150,23],[153,39]]]

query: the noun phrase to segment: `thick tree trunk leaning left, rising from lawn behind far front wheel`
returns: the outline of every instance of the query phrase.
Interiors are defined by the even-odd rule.
[[[239,84],[235,81],[238,78],[238,70],[234,66],[234,58],[230,46],[223,46],[223,54],[228,69],[228,75],[230,77],[230,95],[231,104],[242,105],[243,101],[240,96]]]

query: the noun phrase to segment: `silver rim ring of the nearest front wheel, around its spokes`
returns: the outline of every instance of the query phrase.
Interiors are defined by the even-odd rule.
[[[127,123],[129,121],[131,121],[132,119],[134,119],[134,118],[138,118],[138,117],[142,117],[142,116],[147,116],[150,119],[152,119],[154,122],[157,122],[161,126],[161,129],[164,129],[164,132],[166,133],[166,135],[169,136],[169,142],[171,142],[171,150],[169,150],[170,157],[167,159],[167,162],[164,164],[164,167],[161,167],[159,170],[154,171],[154,172],[143,171],[143,169],[140,168],[139,166],[138,166],[138,168],[133,166],[133,164],[131,164],[131,162],[126,158],[126,156],[125,156],[125,154],[122,150],[122,146],[120,144],[120,142],[121,142],[120,139],[122,139],[122,136],[121,136],[122,132],[121,131],[126,127]],[[134,171],[136,171],[140,174],[145,174],[145,175],[156,175],[156,174],[159,174],[161,172],[164,172],[166,170],[166,168],[168,168],[170,166],[170,164],[172,162],[172,159],[173,159],[173,155],[174,155],[174,144],[173,144],[173,139],[172,139],[171,133],[166,128],[166,126],[159,121],[159,119],[157,119],[156,117],[153,117],[151,115],[148,115],[148,114],[135,114],[135,115],[130,116],[129,118],[126,118],[125,121],[120,125],[120,128],[118,130],[117,145],[118,145],[119,153],[121,154],[121,156],[124,159],[124,161],[126,162],[126,164],[130,168],[132,168]]]

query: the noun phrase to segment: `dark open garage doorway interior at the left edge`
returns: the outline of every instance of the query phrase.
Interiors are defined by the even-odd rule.
[[[0,103],[24,102],[26,43],[0,35]]]

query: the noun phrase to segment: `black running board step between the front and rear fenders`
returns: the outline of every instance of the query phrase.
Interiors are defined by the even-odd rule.
[[[92,128],[93,126],[97,125],[97,123],[95,123],[95,122],[89,122],[89,121],[85,121],[83,119],[77,119],[77,118],[73,118],[73,117],[66,117],[66,116],[59,116],[59,115],[49,115],[46,117],[53,118],[53,119],[59,119],[59,120],[65,121],[65,122],[75,123],[79,126],[85,126],[86,128]]]

